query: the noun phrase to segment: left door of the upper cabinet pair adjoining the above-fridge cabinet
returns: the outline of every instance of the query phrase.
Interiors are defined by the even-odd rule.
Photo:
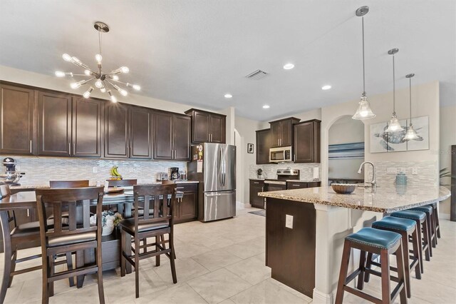
[[[154,158],[172,159],[174,147],[172,142],[172,113],[154,114]]]

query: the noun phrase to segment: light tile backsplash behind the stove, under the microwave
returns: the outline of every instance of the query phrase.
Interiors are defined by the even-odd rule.
[[[314,168],[318,168],[318,180],[321,178],[320,163],[284,163],[267,165],[250,165],[249,178],[257,178],[257,169],[263,170],[264,178],[277,178],[277,169],[299,169],[299,179],[302,181],[314,180]]]

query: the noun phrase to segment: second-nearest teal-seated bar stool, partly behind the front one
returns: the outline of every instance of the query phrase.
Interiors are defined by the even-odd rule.
[[[418,240],[418,230],[416,229],[416,223],[408,218],[395,218],[393,216],[386,216],[380,221],[372,223],[372,228],[380,230],[388,230],[399,233],[402,236],[402,249],[404,258],[405,268],[405,288],[407,291],[407,297],[411,297],[410,293],[410,270],[415,268],[416,278],[421,279],[420,269],[420,243]],[[411,256],[412,263],[408,259],[408,236],[412,237],[413,244],[413,256]],[[371,265],[380,266],[380,263],[375,263],[372,260],[372,253],[368,253],[368,260],[366,261],[366,268],[371,268]],[[391,270],[397,271],[397,269],[391,267]],[[364,278],[365,282],[369,281],[369,273],[366,273]]]

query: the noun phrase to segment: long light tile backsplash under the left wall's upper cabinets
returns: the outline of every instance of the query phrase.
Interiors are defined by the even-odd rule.
[[[6,156],[1,156],[3,159]],[[50,180],[88,179],[90,183],[105,181],[110,169],[118,166],[123,178],[137,178],[139,183],[156,181],[157,173],[168,172],[170,167],[187,170],[185,161],[135,161],[90,158],[53,158],[36,156],[12,156],[19,170],[25,172],[21,178],[23,186],[48,185]],[[3,168],[0,168],[3,170]],[[94,172],[96,171],[96,172]]]

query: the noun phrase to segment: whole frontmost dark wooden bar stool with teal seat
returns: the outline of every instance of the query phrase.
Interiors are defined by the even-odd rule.
[[[399,233],[378,230],[374,228],[362,228],[357,233],[352,233],[345,238],[343,243],[343,255],[341,261],[341,272],[339,273],[339,280],[336,293],[336,304],[341,304],[343,301],[343,293],[353,293],[363,299],[369,300],[373,303],[392,303],[398,293],[400,294],[400,303],[407,303],[407,295],[405,292],[404,280],[404,260],[403,250],[401,245],[401,236]],[[353,271],[350,275],[348,273],[348,264],[350,263],[351,248],[361,250],[361,257],[359,261],[359,268]],[[366,269],[366,252],[375,253],[380,255],[381,273],[371,269]],[[390,254],[395,253],[398,263],[398,278],[391,276],[390,278]],[[382,298],[375,298],[373,295],[361,292],[364,287],[364,274],[375,273],[381,277],[382,281]],[[354,278],[358,276],[357,288],[348,286]],[[398,285],[390,293],[390,279],[398,282]]]

